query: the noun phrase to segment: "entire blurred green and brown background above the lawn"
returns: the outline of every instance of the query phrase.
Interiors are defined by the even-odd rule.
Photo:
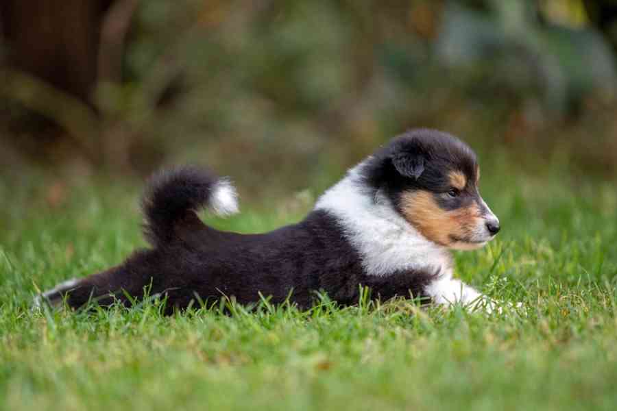
[[[231,175],[243,197],[321,189],[412,127],[461,136],[505,173],[617,173],[617,1],[3,0],[0,13],[1,176],[51,176],[52,199],[84,176],[138,182],[179,162]]]

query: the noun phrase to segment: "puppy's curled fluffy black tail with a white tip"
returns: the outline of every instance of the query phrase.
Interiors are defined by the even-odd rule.
[[[173,227],[188,211],[210,208],[221,216],[238,212],[237,192],[229,179],[196,166],[162,171],[151,177],[143,196],[144,235],[165,245]]]

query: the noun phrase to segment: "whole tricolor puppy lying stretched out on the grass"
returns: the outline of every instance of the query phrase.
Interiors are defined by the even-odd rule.
[[[152,247],[42,297],[73,308],[90,300],[130,305],[127,295],[140,299],[149,289],[165,295],[172,312],[197,297],[250,303],[261,293],[274,303],[291,296],[307,308],[316,291],[356,303],[362,285],[383,300],[411,295],[442,305],[482,303],[490,310],[490,301],[452,277],[449,251],[482,247],[499,232],[498,219],[480,197],[479,177],[467,145],[417,129],[350,169],[300,223],[237,234],[208,227],[196,213],[202,207],[237,211],[227,179],[194,167],[165,171],[152,178],[143,199]]]

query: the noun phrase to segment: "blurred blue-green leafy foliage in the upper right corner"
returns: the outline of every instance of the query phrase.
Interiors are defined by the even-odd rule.
[[[537,93],[553,115],[569,114],[590,96],[614,99],[614,55],[593,29],[540,25],[522,1],[490,4],[489,12],[446,9],[440,62],[467,73],[470,84],[487,79],[522,98]]]

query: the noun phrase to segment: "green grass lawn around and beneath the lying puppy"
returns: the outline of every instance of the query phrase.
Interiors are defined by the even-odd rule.
[[[527,314],[402,299],[324,299],[308,312],[263,302],[231,315],[165,317],[160,301],[32,312],[38,288],[145,244],[138,188],[88,181],[51,207],[49,179],[0,184],[0,409],[616,410],[614,186],[567,170],[494,170],[483,194],[503,232],[457,253],[457,275]],[[210,223],[271,229],[309,207],[300,197]]]

